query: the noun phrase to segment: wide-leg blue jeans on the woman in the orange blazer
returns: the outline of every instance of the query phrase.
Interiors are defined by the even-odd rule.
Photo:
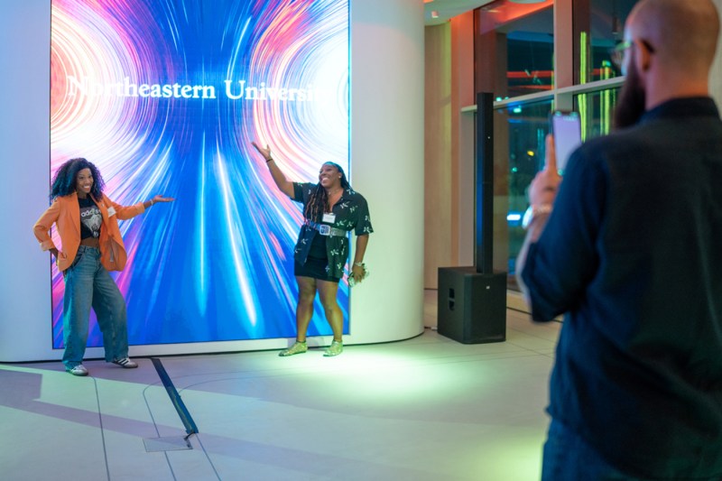
[[[88,343],[90,308],[96,311],[103,333],[106,361],[128,356],[125,299],[116,282],[100,264],[100,250],[80,245],[73,264],[65,271],[62,328],[65,353],[62,362],[72,368],[83,362]]]

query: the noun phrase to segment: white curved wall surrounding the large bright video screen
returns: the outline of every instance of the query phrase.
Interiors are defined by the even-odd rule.
[[[50,0],[0,2],[0,362],[60,359],[51,348],[48,254],[32,236],[50,182]],[[353,291],[347,344],[423,331],[423,4],[351,5],[351,178],[371,208],[372,276]],[[129,319],[129,322],[132,322]],[[311,345],[330,338],[310,338]],[[286,339],[132,346],[131,356],[273,349]],[[102,357],[89,348],[86,357]]]

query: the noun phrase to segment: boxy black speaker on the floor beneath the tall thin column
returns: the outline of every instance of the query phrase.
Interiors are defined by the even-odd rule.
[[[506,340],[506,273],[439,269],[437,330],[463,344]]]

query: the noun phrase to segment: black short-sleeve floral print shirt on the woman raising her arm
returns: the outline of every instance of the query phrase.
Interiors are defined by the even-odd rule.
[[[293,182],[292,199],[301,202],[304,211],[317,185],[310,182]],[[356,190],[345,189],[336,205],[331,208],[331,213],[336,216],[333,222],[323,222],[322,214],[319,214],[319,218],[305,219],[306,222],[301,226],[299,240],[293,250],[293,257],[299,264],[306,264],[313,237],[321,235],[318,230],[309,225],[309,221],[347,232],[354,230],[356,236],[367,236],[374,232],[374,228],[371,227],[371,217],[368,213],[366,199]],[[346,265],[348,258],[348,236],[326,236],[326,254],[329,257],[329,265],[326,267],[327,273],[331,277],[342,278],[344,276],[344,265]]]

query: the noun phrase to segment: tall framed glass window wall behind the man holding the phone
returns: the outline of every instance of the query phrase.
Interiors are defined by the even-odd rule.
[[[544,165],[545,137],[552,109],[579,112],[582,138],[608,134],[623,79],[609,49],[624,37],[624,24],[636,0],[573,0],[516,4],[498,0],[475,12],[475,87],[494,92],[495,199],[507,208],[506,224],[495,230],[495,251],[508,253],[508,285],[516,289],[515,259],[523,244],[521,226],[528,207],[526,190]],[[560,9],[571,11],[560,11]],[[569,29],[554,29],[573,19]],[[555,38],[568,32],[569,38]],[[565,37],[567,35],[565,34]],[[573,48],[572,48],[573,47]],[[559,62],[556,55],[569,62]],[[573,79],[559,88],[556,78]],[[503,256],[502,256],[503,257]],[[500,261],[504,260],[499,259]],[[495,269],[502,263],[495,261]]]

